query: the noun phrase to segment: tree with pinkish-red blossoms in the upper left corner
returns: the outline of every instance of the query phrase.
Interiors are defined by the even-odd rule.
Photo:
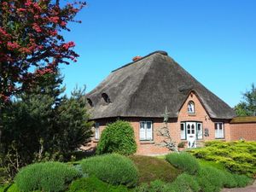
[[[84,7],[59,0],[0,0],[0,102],[79,56],[60,32]],[[32,72],[33,68],[35,69]]]

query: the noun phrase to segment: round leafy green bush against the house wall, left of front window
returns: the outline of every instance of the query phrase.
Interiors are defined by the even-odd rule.
[[[96,154],[134,154],[137,151],[134,131],[130,123],[118,120],[108,124],[102,131],[100,142],[96,148]]]

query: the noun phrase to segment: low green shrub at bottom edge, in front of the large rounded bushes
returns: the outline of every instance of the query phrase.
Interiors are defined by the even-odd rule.
[[[125,186],[113,186],[104,183],[97,177],[84,177],[74,181],[67,192],[126,192]]]

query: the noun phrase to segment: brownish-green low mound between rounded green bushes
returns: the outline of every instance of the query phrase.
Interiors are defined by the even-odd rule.
[[[142,155],[132,155],[130,158],[138,168],[139,183],[150,183],[156,179],[170,183],[181,173],[163,159]]]

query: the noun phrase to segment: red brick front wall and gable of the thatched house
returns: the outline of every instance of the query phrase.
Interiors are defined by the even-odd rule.
[[[193,101],[195,103],[195,113],[188,113],[188,103]],[[164,113],[164,109],[163,109]],[[163,118],[123,118],[131,123],[134,128],[136,142],[137,142],[137,154],[143,155],[157,155],[157,154],[167,154],[170,151],[160,146],[160,143],[164,140],[164,137],[160,137],[159,130],[164,127]],[[105,129],[108,123],[115,121],[116,119],[97,119],[96,122],[100,124],[100,135]],[[153,141],[140,141],[139,131],[140,131],[140,121],[151,120],[153,122]],[[186,142],[186,140],[181,140],[180,124],[183,121],[197,121],[202,123],[203,128],[203,138],[198,141],[200,142],[214,140],[215,139],[215,127],[214,122],[224,123],[224,139],[225,141],[230,141],[233,137],[230,137],[230,121],[224,119],[211,119],[207,114],[205,108],[202,106],[200,99],[195,93],[189,94],[187,100],[183,103],[183,107],[180,109],[176,119],[169,119],[168,128],[171,133],[173,141],[177,144],[181,141]],[[209,131],[209,137],[205,137],[205,129]],[[233,128],[234,129],[234,128]],[[90,143],[90,148],[95,148],[98,141],[94,138]]]

